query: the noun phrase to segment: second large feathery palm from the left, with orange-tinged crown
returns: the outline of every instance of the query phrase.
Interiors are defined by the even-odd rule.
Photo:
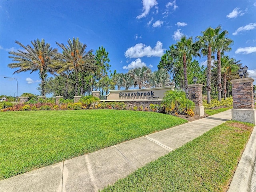
[[[78,96],[79,86],[79,72],[80,71],[93,71],[93,64],[95,63],[93,50],[86,52],[86,44],[79,41],[78,38],[68,39],[68,45],[56,44],[62,48],[62,54],[59,57],[62,59],[63,67],[72,69],[75,76],[75,96]]]

